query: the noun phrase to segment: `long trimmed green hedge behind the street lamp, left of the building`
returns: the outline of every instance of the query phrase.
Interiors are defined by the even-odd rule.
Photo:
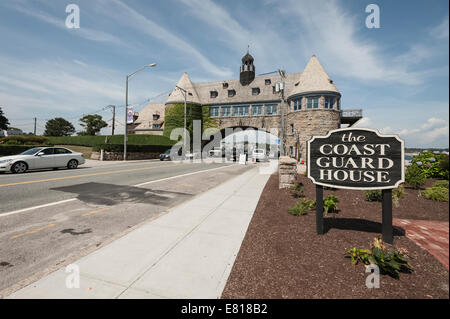
[[[77,145],[77,146],[95,146],[100,144],[106,144],[106,135],[96,136],[58,136],[49,137],[49,142],[53,145]],[[108,144],[121,144],[123,143],[123,135],[108,136]],[[128,135],[128,144],[132,145],[166,145],[171,146],[175,144],[175,141],[171,141],[169,138],[161,135],[144,135],[144,134],[132,134]]]

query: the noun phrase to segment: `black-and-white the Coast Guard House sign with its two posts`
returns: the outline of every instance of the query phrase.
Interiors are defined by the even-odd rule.
[[[365,128],[330,131],[308,141],[308,178],[316,184],[317,232],[323,234],[323,186],[383,190],[383,239],[393,242],[392,189],[405,180],[404,142]]]

